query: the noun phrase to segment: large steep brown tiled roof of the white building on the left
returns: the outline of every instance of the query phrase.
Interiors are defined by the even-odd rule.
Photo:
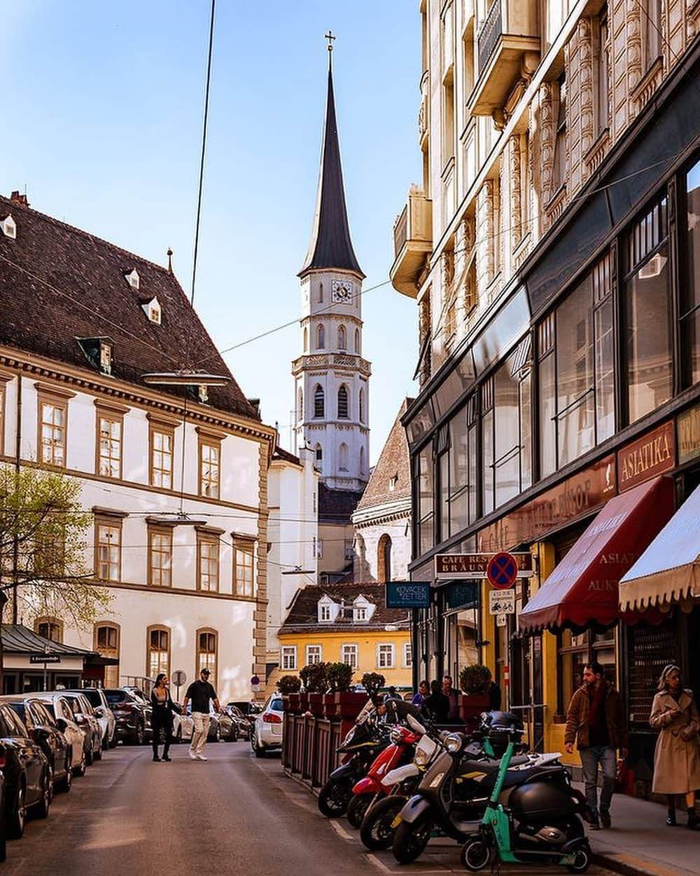
[[[182,367],[230,376],[167,268],[0,196],[0,221],[8,214],[17,223],[17,239],[0,233],[0,343],[94,368],[76,338],[110,337],[112,374],[140,385],[144,373]],[[138,289],[125,279],[134,268]],[[154,296],[163,308],[161,325],[141,306]],[[172,392],[182,397],[181,388]],[[209,387],[208,395],[214,408],[260,420],[233,378]]]

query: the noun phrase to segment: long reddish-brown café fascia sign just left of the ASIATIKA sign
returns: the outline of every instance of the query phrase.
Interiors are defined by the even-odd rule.
[[[616,492],[615,457],[606,456],[486,526],[479,532],[477,545],[482,551],[496,553],[536,541],[553,529],[595,511]]]

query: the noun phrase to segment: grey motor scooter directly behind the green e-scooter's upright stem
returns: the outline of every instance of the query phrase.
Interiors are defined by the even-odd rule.
[[[487,753],[484,745],[495,745],[502,751],[503,728],[515,727],[515,724],[519,724],[519,719],[514,715],[492,712],[484,716],[483,741],[461,733],[448,733],[436,740],[437,751],[416,794],[406,802],[393,823],[392,851],[400,864],[416,860],[436,828],[460,843],[479,829],[479,819],[486,810],[501,765],[501,759],[489,756],[493,747]],[[514,733],[522,734],[521,724]],[[556,762],[558,757],[558,754],[514,757],[511,750],[509,768],[503,779],[504,793],[531,773]],[[564,772],[561,765],[553,769]]]

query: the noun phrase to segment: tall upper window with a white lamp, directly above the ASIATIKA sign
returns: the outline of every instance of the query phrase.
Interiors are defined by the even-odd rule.
[[[673,392],[666,198],[634,224],[626,258],[627,404],[634,423]]]

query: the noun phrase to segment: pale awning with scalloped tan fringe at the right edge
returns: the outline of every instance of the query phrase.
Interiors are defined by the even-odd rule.
[[[620,581],[620,609],[646,611],[700,597],[700,487]]]

